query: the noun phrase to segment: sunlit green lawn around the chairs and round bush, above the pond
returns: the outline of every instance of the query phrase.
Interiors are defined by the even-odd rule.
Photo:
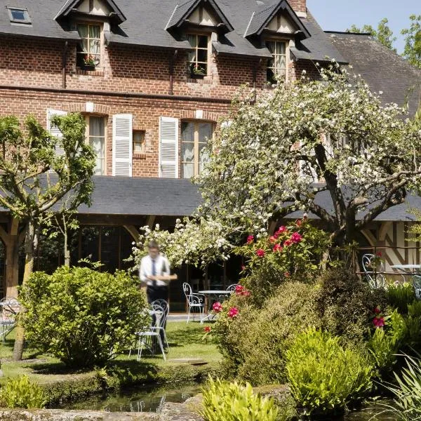
[[[171,359],[203,359],[211,366],[217,366],[220,361],[220,353],[213,342],[203,342],[203,328],[209,326],[204,323],[188,323],[185,321],[168,321],[167,337],[170,349],[167,354],[167,361],[163,361],[161,354],[149,355],[147,352],[142,354],[142,359],[136,361],[136,352],[133,350],[131,357],[128,354],[119,355],[109,366],[118,368],[128,368],[138,373],[144,369],[145,374],[159,375],[161,371],[171,373],[180,373],[186,364],[171,362]],[[40,385],[51,385],[55,382],[64,382],[66,380],[83,380],[92,377],[94,371],[81,371],[70,373],[58,359],[53,356],[41,354],[30,344],[25,347],[22,361],[13,361],[13,343],[15,335],[12,331],[6,338],[6,343],[0,345],[1,369],[4,376],[0,377],[0,385],[3,385],[11,377],[19,375],[29,375],[32,380],[39,382]],[[187,370],[187,368],[186,368]]]

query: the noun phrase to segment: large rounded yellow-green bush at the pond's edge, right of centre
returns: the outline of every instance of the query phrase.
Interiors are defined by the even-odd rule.
[[[340,346],[340,338],[310,329],[286,353],[291,392],[307,414],[343,409],[371,388],[373,366]]]

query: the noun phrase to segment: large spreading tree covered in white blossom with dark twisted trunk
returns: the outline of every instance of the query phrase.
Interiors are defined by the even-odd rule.
[[[334,243],[351,243],[420,184],[420,122],[402,119],[403,109],[383,105],[381,92],[337,64],[321,79],[303,76],[234,102],[197,179],[201,215],[228,235],[301,209],[324,222]],[[317,199],[322,192],[327,206]]]

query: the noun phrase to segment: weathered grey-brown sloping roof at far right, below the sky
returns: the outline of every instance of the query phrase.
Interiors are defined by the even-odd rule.
[[[421,69],[410,65],[400,55],[368,34],[327,32],[330,43],[352,64],[352,72],[361,74],[373,91],[383,91],[383,102],[404,105],[414,114],[421,95]],[[411,92],[411,88],[413,91]]]

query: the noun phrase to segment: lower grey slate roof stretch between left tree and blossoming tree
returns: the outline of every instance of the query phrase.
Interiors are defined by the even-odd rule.
[[[81,214],[187,216],[201,203],[190,180],[94,176],[93,182],[92,206],[80,206]]]

